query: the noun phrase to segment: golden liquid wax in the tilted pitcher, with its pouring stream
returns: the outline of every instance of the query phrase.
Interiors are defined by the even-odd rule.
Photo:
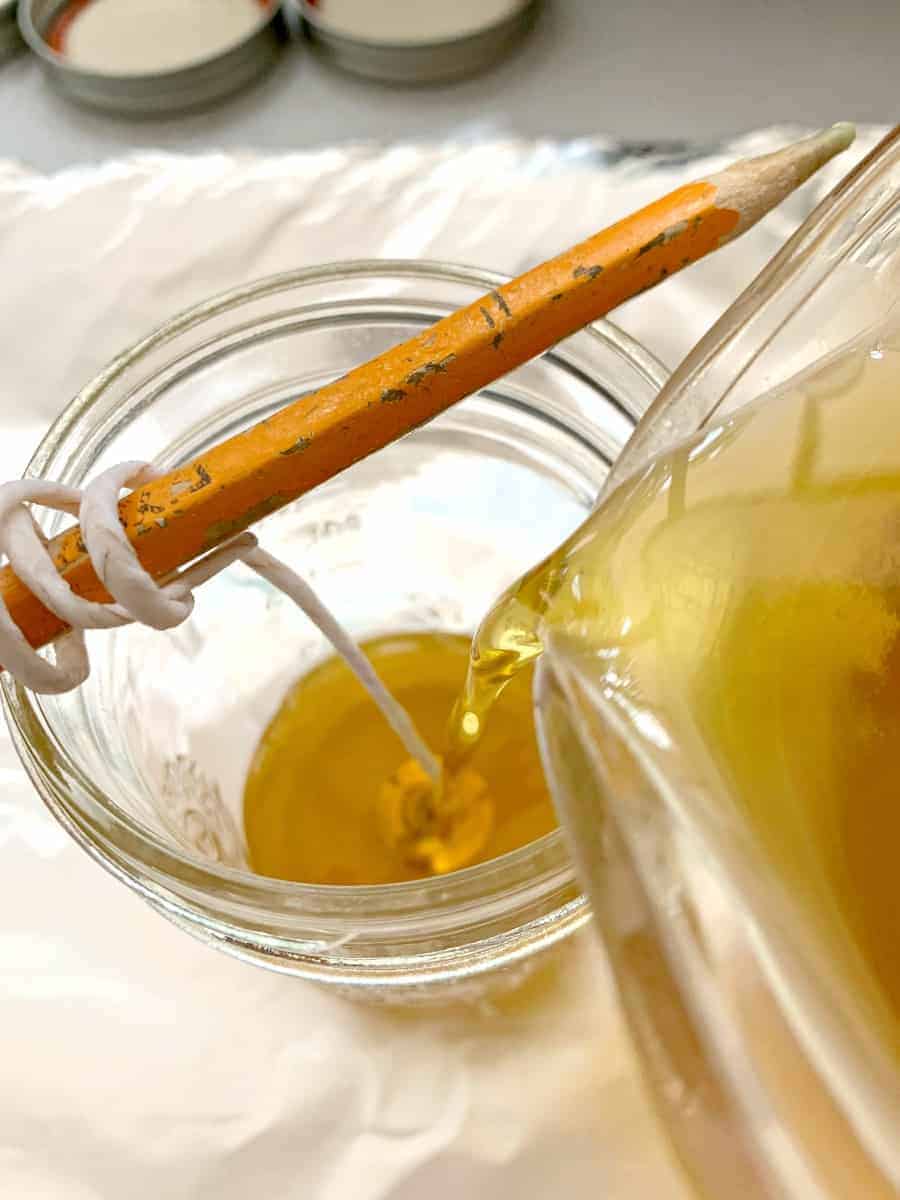
[[[900,1028],[900,347],[851,348],[704,431],[510,589],[473,642],[461,758],[548,630],[620,710],[701,748]]]

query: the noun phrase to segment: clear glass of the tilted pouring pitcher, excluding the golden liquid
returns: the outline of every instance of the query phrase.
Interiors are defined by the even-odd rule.
[[[894,133],[672,376],[607,491],[863,337],[878,359],[888,326],[895,346],[899,300]],[[810,478],[842,479],[816,446]],[[670,482],[676,521],[690,503],[674,468]],[[746,808],[730,803],[727,784],[710,786],[700,739],[660,733],[640,703],[617,706],[610,683],[589,647],[547,638],[536,679],[545,767],[680,1160],[710,1198],[896,1196],[900,1069],[884,1014],[848,985],[850,956],[786,886]]]

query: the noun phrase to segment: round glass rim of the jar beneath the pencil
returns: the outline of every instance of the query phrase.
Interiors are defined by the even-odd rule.
[[[221,292],[157,326],[100,371],[52,424],[35,450],[25,475],[31,478],[53,475],[54,467],[59,466],[60,456],[65,455],[71,439],[82,439],[84,422],[90,421],[92,412],[102,402],[110,385],[152,350],[203,322],[238,308],[247,301],[288,292],[304,284],[377,278],[458,283],[478,288],[480,294],[506,282],[509,276],[444,262],[362,259],[284,271]],[[611,322],[596,322],[574,336],[619,355],[632,370],[643,376],[654,390],[658,390],[667,378],[668,372],[665,366],[641,343]],[[626,400],[628,397],[617,397],[617,402]],[[127,412],[127,401],[122,410]],[[636,420],[640,412],[635,410],[629,415]],[[491,884],[498,892],[502,888],[506,896],[510,889],[514,893],[516,889],[527,892],[535,886],[535,869],[541,872],[539,878],[545,887],[552,886],[554,880],[562,886],[574,878],[563,845],[563,833],[559,829],[475,866],[445,876],[404,883],[311,884],[254,875],[222,864],[202,863],[166,844],[154,830],[112,804],[103,790],[88,779],[77,763],[66,761],[66,785],[77,782],[83,793],[79,798],[80,804],[74,805],[77,811],[73,811],[73,805],[66,803],[66,788],[52,778],[52,772],[40,761],[40,755],[35,750],[36,744],[42,744],[50,750],[55,761],[59,761],[60,756],[65,758],[66,755],[65,746],[54,739],[53,720],[46,713],[41,698],[31,696],[10,677],[2,678],[0,691],[17,750],[32,780],[37,782],[40,779],[43,785],[38,790],[56,820],[92,857],[114,874],[121,874],[132,887],[136,881],[125,864],[133,863],[139,868],[145,887],[138,890],[157,904],[164,904],[166,878],[169,877],[176,878],[182,886],[187,884],[203,892],[216,890],[217,894],[224,894],[236,904],[264,905],[270,912],[275,905],[276,912],[282,916],[295,912],[304,916],[313,913],[340,918],[341,910],[352,905],[355,919],[365,923],[365,917],[359,916],[360,902],[367,905],[378,917],[402,920],[413,913],[421,914],[424,896],[427,896],[425,902],[432,910],[449,911],[458,910],[458,906],[467,901],[480,900]],[[89,804],[85,805],[84,800]],[[116,835],[125,835],[125,844],[116,844],[119,854],[110,854],[110,829],[114,829]]]

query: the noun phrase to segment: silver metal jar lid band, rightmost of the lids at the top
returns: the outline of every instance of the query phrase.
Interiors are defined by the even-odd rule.
[[[439,83],[474,74],[490,66],[510,49],[530,28],[539,0],[510,0],[499,17],[486,16],[460,30],[450,29],[438,36],[428,34],[428,23],[410,6],[410,24],[401,37],[390,29],[373,32],[372,20],[354,29],[352,19],[329,20],[329,0],[296,0],[304,17],[306,34],[319,52],[336,66],[370,79],[390,83]],[[420,12],[427,5],[419,6]],[[454,0],[444,6],[452,13]],[[372,5],[370,13],[379,6]],[[384,11],[384,10],[382,10]]]

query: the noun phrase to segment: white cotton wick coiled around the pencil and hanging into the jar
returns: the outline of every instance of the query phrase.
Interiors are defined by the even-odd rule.
[[[262,550],[252,534],[233,538],[163,584],[144,570],[119,520],[119,494],[158,474],[149,463],[125,462],[103,472],[84,492],[43,480],[0,486],[0,553],[6,554],[22,582],[42,604],[72,626],[71,632],[55,643],[56,661],[50,662],[31,649],[0,601],[0,661],[6,670],[32,691],[70,691],[84,683],[90,671],[85,629],[110,629],[132,620],[154,629],[170,629],[191,614],[194,587],[233,563],[244,562],[293,600],[319,629],[378,706],[407,754],[438,784],[440,763],[409,713],[391,696],[372,664],[310,584],[287,563]],[[26,504],[78,514],[91,565],[115,604],[95,604],[72,592],[56,571]]]

